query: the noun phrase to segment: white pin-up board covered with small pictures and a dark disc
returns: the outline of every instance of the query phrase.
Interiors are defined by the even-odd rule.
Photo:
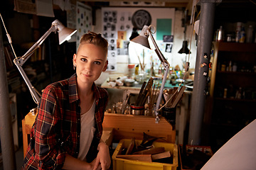
[[[168,56],[166,57],[168,60],[171,57],[174,40],[174,14],[175,8],[102,8],[102,34],[109,42],[107,70],[116,71],[117,61],[125,62],[122,61],[124,55],[129,55],[129,63],[139,63],[142,53],[147,55],[145,62],[154,62],[156,65],[161,63],[154,50],[144,49],[142,52],[140,46],[129,50],[132,46],[129,42],[132,28],[137,28],[139,33],[144,25],[152,25],[156,28],[154,39],[161,52],[166,53],[164,56]],[[154,47],[150,40],[149,45],[151,48]],[[147,65],[149,66],[150,63]]]

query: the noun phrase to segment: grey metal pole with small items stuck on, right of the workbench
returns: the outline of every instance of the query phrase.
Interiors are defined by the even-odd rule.
[[[206,82],[212,44],[215,3],[213,0],[201,1],[201,16],[199,23],[198,50],[196,54],[196,70],[191,101],[191,118],[188,132],[188,145],[200,145],[201,127],[203,124],[206,101]]]

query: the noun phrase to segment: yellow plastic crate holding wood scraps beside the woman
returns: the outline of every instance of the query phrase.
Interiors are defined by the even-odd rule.
[[[113,170],[175,170],[178,167],[178,146],[174,143],[154,142],[154,147],[164,147],[166,151],[171,151],[173,157],[173,164],[164,164],[159,162],[143,162],[137,160],[129,160],[117,158],[117,154],[129,146],[131,140],[120,140],[117,148],[112,155]],[[135,140],[136,145],[141,144],[142,140]]]

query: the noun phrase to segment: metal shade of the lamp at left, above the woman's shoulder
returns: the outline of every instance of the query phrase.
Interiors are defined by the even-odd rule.
[[[77,31],[75,29],[66,28],[58,20],[53,21],[52,25],[55,26],[58,31],[59,44],[62,44],[65,40],[70,40],[71,36]]]

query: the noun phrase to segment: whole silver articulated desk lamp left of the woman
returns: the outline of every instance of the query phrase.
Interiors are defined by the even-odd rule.
[[[3,21],[3,23],[4,23],[4,21]],[[71,29],[71,28],[66,28],[65,26],[63,26],[62,23],[60,23],[60,21],[58,21],[56,19],[55,21],[53,21],[50,29],[23,56],[16,57],[15,52],[14,52],[14,55],[16,57],[14,59],[14,64],[16,64],[16,67],[18,68],[18,71],[21,73],[21,76],[23,77],[24,81],[26,82],[26,85],[28,86],[28,89],[31,92],[31,96],[33,97],[33,100],[35,101],[36,104],[39,103],[41,94],[39,94],[38,91],[36,91],[36,89],[32,86],[32,84],[29,81],[29,79],[28,79],[26,73],[24,72],[22,66],[26,62],[26,60],[28,60],[28,58],[31,57],[31,55],[33,55],[33,52],[35,52],[36,49],[38,49],[38,47],[40,47],[40,45],[43,43],[43,41],[46,40],[48,35],[50,35],[51,32],[56,33],[56,31],[58,32],[59,44],[62,44],[63,42],[65,42],[65,40],[70,40],[71,36],[77,30],[74,30],[74,29]],[[9,43],[11,44],[11,37],[7,33],[7,30],[6,30],[6,35],[7,35],[7,38],[9,40]]]

